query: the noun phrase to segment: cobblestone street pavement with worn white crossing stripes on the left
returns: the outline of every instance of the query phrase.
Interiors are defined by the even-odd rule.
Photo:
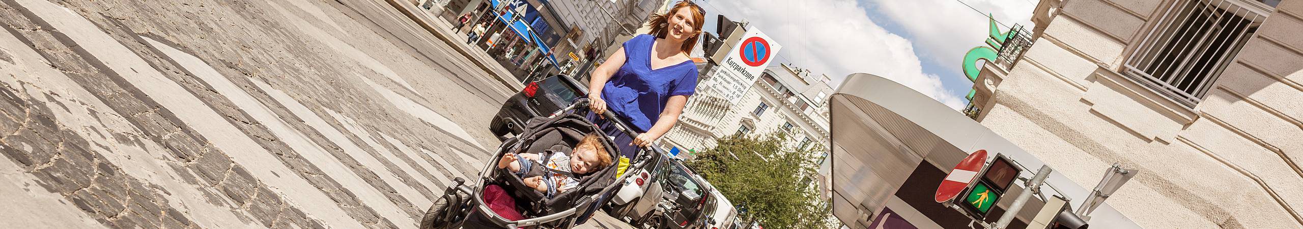
[[[360,5],[0,0],[0,224],[416,228],[509,90]]]

